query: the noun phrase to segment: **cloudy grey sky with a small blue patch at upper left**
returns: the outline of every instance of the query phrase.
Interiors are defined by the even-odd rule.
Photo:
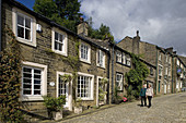
[[[35,0],[18,0],[32,9]],[[116,41],[126,36],[186,57],[186,0],[80,0],[80,12],[93,19],[93,27],[109,26]]]

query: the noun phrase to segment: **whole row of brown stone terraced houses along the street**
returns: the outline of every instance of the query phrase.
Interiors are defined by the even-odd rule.
[[[112,103],[116,86],[118,94],[127,94],[125,74],[133,67],[131,53],[143,54],[141,61],[150,70],[143,83],[151,84],[156,95],[177,93],[185,84],[185,58],[177,56],[173,48],[141,41],[139,32],[118,44],[109,39],[91,39],[88,37],[88,24],[83,21],[75,34],[14,0],[2,1],[1,5],[1,28],[12,28],[24,58],[20,98],[23,110],[45,112],[43,96],[60,95],[66,95],[65,107],[73,110],[72,82],[65,83],[60,76],[73,74],[74,69],[66,59],[77,56],[80,62],[75,96],[82,99],[84,108],[101,102]],[[1,34],[3,50],[9,47],[10,38],[4,32]],[[102,78],[108,81],[102,86],[107,95],[100,100]]]

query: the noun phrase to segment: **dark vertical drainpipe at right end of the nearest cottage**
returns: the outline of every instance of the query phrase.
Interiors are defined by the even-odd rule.
[[[112,58],[112,103],[114,102],[114,47],[115,44],[113,46],[113,58]]]

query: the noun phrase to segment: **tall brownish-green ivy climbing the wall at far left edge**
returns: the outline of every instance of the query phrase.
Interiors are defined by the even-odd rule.
[[[20,107],[21,90],[21,51],[15,35],[10,27],[5,27],[7,48],[0,52],[0,121],[21,122],[23,119]]]

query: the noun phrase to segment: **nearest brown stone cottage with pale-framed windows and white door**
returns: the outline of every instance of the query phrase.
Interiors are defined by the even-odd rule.
[[[82,99],[84,108],[98,106],[98,83],[109,77],[109,52],[84,38],[82,35],[86,33],[81,32],[82,26],[78,26],[78,35],[14,0],[2,1],[1,21],[2,28],[12,28],[24,58],[20,98],[23,110],[42,114],[45,112],[43,96],[60,95],[66,95],[65,108],[70,111],[72,95]],[[4,49],[9,37],[4,33],[2,36]],[[72,81],[66,83],[60,76],[74,72],[78,79],[72,90]],[[104,90],[107,91],[107,85]],[[104,102],[107,100],[105,96]]]

